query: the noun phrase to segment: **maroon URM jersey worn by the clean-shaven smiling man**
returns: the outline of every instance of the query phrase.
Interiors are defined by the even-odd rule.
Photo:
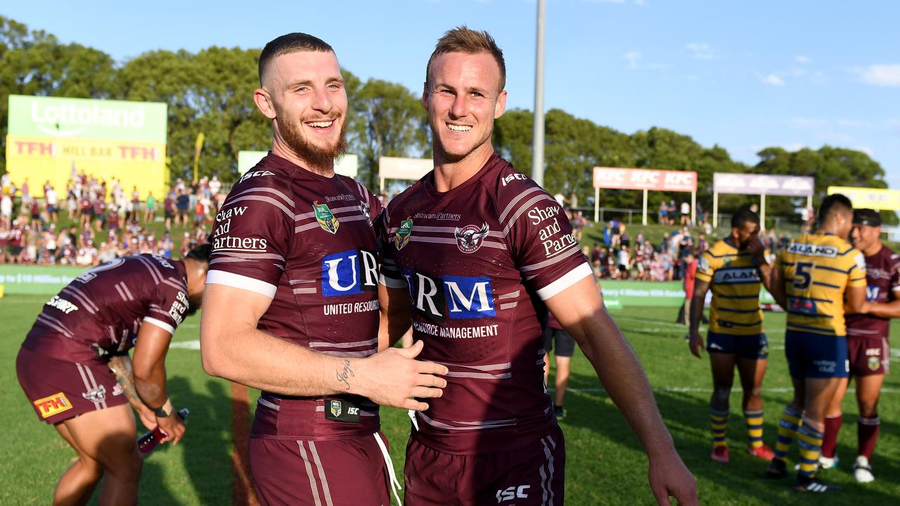
[[[544,385],[544,300],[592,276],[563,208],[492,156],[438,193],[429,173],[388,205],[382,283],[409,288],[420,356],[444,364],[413,438],[454,454],[544,437],[556,420]]]

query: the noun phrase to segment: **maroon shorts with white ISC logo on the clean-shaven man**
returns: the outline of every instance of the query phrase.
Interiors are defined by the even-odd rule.
[[[403,474],[407,506],[563,504],[565,439],[554,427],[532,444],[485,455],[447,454],[410,440]]]

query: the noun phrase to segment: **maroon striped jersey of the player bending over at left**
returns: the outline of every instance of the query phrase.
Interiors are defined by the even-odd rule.
[[[157,255],[115,258],[44,304],[22,346],[46,357],[103,364],[97,348],[130,349],[145,322],[175,333],[188,305],[184,262]]]

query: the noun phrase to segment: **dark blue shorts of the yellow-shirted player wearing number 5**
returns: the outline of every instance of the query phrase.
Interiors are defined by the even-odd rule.
[[[850,375],[847,338],[812,332],[785,332],[785,356],[794,378],[845,378]]]

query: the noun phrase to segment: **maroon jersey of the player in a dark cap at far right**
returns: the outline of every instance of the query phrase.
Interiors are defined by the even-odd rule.
[[[882,246],[878,253],[866,257],[866,300],[889,303],[900,297],[900,255]],[[890,319],[870,314],[848,314],[847,336],[887,339]]]

